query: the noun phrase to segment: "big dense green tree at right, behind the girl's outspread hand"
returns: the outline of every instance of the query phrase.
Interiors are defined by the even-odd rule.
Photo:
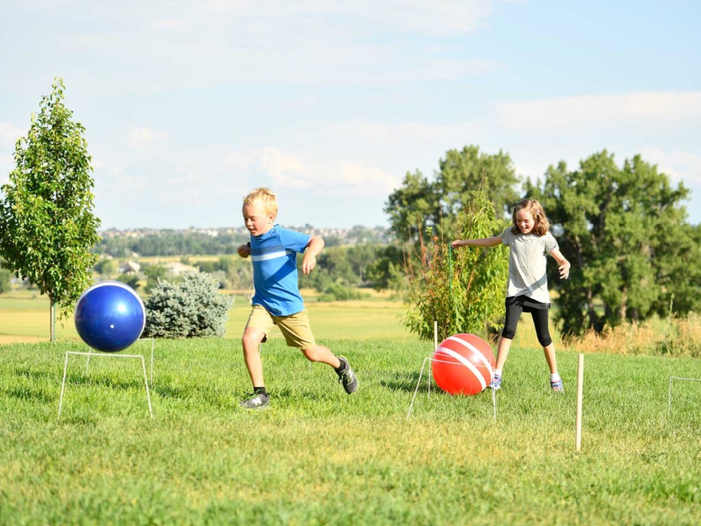
[[[698,254],[680,205],[688,190],[673,188],[656,166],[634,156],[619,168],[604,150],[578,170],[562,161],[550,166],[543,183],[528,181],[526,191],[543,204],[573,267],[568,281],[550,268],[550,283],[561,292],[557,320],[564,334],[645,320],[667,311],[672,295],[685,309],[699,305],[700,273],[694,270],[695,283],[686,285],[678,259],[680,252]]]

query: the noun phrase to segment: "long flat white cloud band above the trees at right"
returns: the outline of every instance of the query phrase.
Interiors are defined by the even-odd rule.
[[[634,92],[496,104],[498,121],[515,130],[618,123],[680,123],[701,118],[701,92]]]

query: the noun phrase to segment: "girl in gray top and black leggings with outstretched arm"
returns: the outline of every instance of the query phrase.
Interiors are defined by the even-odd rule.
[[[550,367],[550,388],[562,392],[562,378],[557,372],[555,347],[547,328],[547,309],[550,295],[547,292],[545,267],[550,254],[559,264],[560,279],[569,276],[570,264],[560,252],[555,238],[547,230],[550,222],[543,207],[535,199],[524,199],[512,214],[513,226],[507,227],[501,236],[482,239],[456,239],[454,248],[464,246],[494,247],[504,243],[509,247],[509,283],[506,290],[506,316],[504,329],[498,342],[494,379],[489,387],[501,389],[501,370],[509,354],[516,325],[522,312],[530,312],[536,325],[538,342],[545,351],[545,360]]]

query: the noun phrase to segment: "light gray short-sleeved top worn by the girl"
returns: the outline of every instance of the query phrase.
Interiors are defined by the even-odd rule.
[[[559,248],[550,232],[512,234],[512,227],[501,233],[501,241],[509,248],[509,284],[506,297],[526,295],[536,302],[550,303],[547,292],[547,255]]]

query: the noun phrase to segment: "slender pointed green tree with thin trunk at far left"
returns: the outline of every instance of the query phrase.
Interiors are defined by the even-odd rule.
[[[0,255],[15,276],[28,278],[50,299],[50,336],[55,306],[66,313],[93,281],[100,237],[93,215],[85,128],[65,107],[62,79],[32,115],[26,138],[15,145],[16,168],[0,201]]]

